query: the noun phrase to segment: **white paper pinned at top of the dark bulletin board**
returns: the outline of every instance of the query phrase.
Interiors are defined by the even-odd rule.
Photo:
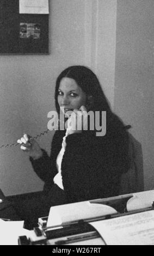
[[[48,0],[20,0],[20,14],[48,14]]]

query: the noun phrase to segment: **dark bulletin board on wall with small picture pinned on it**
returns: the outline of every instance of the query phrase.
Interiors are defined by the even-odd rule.
[[[48,14],[20,14],[19,0],[0,1],[0,54],[48,54]]]

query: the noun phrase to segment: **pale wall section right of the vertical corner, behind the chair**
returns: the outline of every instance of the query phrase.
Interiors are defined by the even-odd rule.
[[[114,109],[143,147],[145,190],[154,188],[154,2],[118,0]]]

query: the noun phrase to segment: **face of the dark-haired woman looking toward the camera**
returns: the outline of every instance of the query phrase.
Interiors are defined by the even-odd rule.
[[[86,104],[86,94],[72,78],[62,78],[58,92],[58,104],[60,108],[63,107],[64,114]]]

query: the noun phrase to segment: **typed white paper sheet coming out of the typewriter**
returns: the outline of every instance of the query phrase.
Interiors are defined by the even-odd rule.
[[[154,245],[154,211],[91,222],[107,245]]]

